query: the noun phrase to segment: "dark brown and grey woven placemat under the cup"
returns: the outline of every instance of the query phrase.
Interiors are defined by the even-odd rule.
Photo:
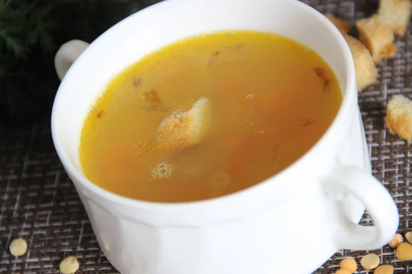
[[[145,4],[152,2],[155,1]],[[376,1],[359,0],[305,2],[350,21],[368,16],[377,6]],[[136,7],[141,7],[141,1]],[[383,118],[391,95],[402,93],[412,97],[411,28],[410,24],[407,36],[396,40],[396,56],[378,66],[376,84],[359,98],[373,173],[398,205],[401,233],[412,225],[412,149],[387,133]],[[80,260],[78,273],[117,273],[100,251],[82,203],[60,164],[49,121],[28,128],[0,129],[0,210],[0,273],[60,273],[60,260],[68,255]],[[367,214],[362,223],[371,223]],[[8,251],[10,241],[18,236],[29,242],[29,251],[22,258],[14,258]],[[306,252],[311,251],[302,250],[301,256]],[[395,266],[395,273],[412,273],[412,262],[396,260],[390,247],[371,252],[380,256],[381,263]],[[363,254],[339,251],[316,273],[334,273],[341,258],[359,258]],[[293,266],[290,267],[293,272]]]

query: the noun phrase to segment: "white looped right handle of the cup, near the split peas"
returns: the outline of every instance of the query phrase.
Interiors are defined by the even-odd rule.
[[[330,210],[334,211],[331,216],[337,216],[334,235],[339,249],[378,249],[396,234],[399,225],[396,203],[385,186],[372,175],[352,166],[339,166],[325,180],[324,189],[334,204]],[[354,195],[365,205],[374,225],[363,226],[350,221],[341,202],[347,194]]]

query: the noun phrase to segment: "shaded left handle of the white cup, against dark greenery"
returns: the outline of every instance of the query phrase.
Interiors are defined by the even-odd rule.
[[[89,43],[82,40],[70,40],[65,42],[60,49],[58,49],[54,57],[54,68],[60,81],[65,77],[67,71],[74,61],[82,54],[82,52],[89,47]]]

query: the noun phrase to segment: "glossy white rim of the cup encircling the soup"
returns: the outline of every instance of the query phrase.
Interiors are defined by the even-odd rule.
[[[148,8],[144,8],[143,10],[139,10],[138,12],[135,12],[134,14],[131,14],[130,16],[124,18],[119,23],[113,25],[113,27],[111,27],[110,29],[106,30],[106,32],[104,32],[102,35],[96,38],[96,40],[94,40],[91,43],[91,45],[102,42],[102,40],[106,39],[106,36],[110,36],[112,32],[116,32],[117,28],[119,28],[121,25],[128,23],[128,21],[132,20],[132,18],[135,18],[136,16],[141,16],[141,14],[144,14],[144,13],[156,12],[155,10],[162,8],[165,5],[172,5],[176,1],[186,1],[187,3],[189,3],[192,0],[190,1],[166,0],[160,3],[156,3],[154,5],[151,5]],[[345,115],[349,115],[351,104],[354,104],[356,102],[355,99],[357,97],[357,91],[355,88],[356,78],[355,78],[355,72],[354,72],[354,61],[352,59],[352,53],[350,51],[350,48],[345,42],[345,39],[343,38],[341,32],[339,32],[339,30],[336,29],[336,27],[327,18],[325,18],[323,14],[321,14],[314,8],[310,7],[309,5],[306,5],[305,3],[302,3],[298,0],[278,0],[278,1],[283,1],[290,5],[295,5],[297,9],[304,10],[305,12],[310,13],[312,16],[317,18],[317,20],[320,21],[320,23],[322,23],[323,25],[325,25],[325,27],[329,29],[333,38],[339,43],[339,47],[341,48],[341,51],[345,58],[346,85],[345,85],[345,90],[342,90],[343,91],[343,101],[342,101],[341,107],[339,108],[339,111],[336,114],[334,120],[332,121],[330,127],[328,127],[328,129],[321,136],[321,138],[317,140],[317,142],[308,151],[306,151],[304,155],[302,155],[298,160],[293,162],[293,164],[290,164],[290,166],[286,167],[286,169],[280,171],[279,173],[273,175],[272,177],[269,177],[268,179],[265,179],[264,181],[258,184],[250,186],[249,188],[245,188],[243,190],[239,190],[229,195],[224,195],[222,197],[216,197],[216,198],[205,199],[205,200],[200,200],[200,201],[185,201],[185,202],[179,202],[179,203],[144,201],[144,200],[124,197],[122,195],[117,195],[114,192],[108,191],[98,186],[97,184],[93,184],[93,182],[89,181],[87,177],[85,177],[82,173],[80,173],[73,166],[73,164],[71,164],[69,160],[69,156],[67,155],[67,152],[65,151],[65,149],[63,148],[60,142],[60,138],[58,137],[58,132],[56,129],[58,127],[57,123],[59,120],[56,114],[57,113],[56,108],[58,108],[58,105],[61,103],[60,101],[62,101],[61,100],[62,92],[60,92],[60,88],[58,88],[58,91],[56,93],[56,97],[54,100],[54,104],[53,104],[53,109],[52,109],[52,122],[51,122],[52,138],[53,138],[54,146],[56,148],[58,156],[63,166],[65,167],[65,170],[69,174],[69,176],[70,175],[73,176],[73,181],[76,180],[79,184],[84,186],[84,188],[87,188],[87,190],[89,190],[90,192],[93,192],[95,193],[95,195],[98,195],[100,198],[111,201],[117,205],[128,206],[131,208],[139,208],[142,210],[183,212],[186,210],[198,210],[201,208],[204,209],[211,205],[213,205],[214,207],[224,206],[225,203],[231,203],[233,201],[240,201],[246,195],[255,195],[255,193],[258,193],[264,190],[264,186],[266,186],[267,184],[275,184],[274,181],[277,181],[279,177],[285,177],[287,175],[290,175],[290,173],[296,172],[296,169],[299,169],[304,164],[304,162],[308,160],[308,158],[312,158],[312,155],[315,154],[316,151],[319,151],[319,147],[322,146],[323,142],[325,142],[326,139],[330,139],[330,136],[333,135],[333,132],[339,131],[339,127],[341,123],[343,123],[343,120],[345,119]],[[62,83],[64,83],[64,79],[62,80]]]

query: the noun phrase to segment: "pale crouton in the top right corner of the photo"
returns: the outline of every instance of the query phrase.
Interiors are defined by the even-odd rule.
[[[411,0],[380,0],[379,19],[398,36],[405,36],[411,16]]]

